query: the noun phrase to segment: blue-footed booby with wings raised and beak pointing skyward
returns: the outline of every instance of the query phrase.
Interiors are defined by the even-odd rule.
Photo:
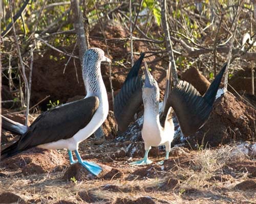
[[[204,96],[185,81],[179,81],[171,90],[170,77],[166,81],[163,112],[159,113],[159,87],[145,63],[145,74],[138,76],[144,55],[132,67],[130,73],[115,97],[114,114],[120,130],[124,131],[132,121],[138,107],[144,104],[144,121],[141,131],[144,140],[145,156],[142,160],[132,162],[132,165],[151,164],[148,152],[152,146],[165,145],[166,156],[169,157],[170,143],[174,138],[173,111],[180,123],[181,131],[189,136],[200,129],[207,121],[214,100],[226,69],[221,69],[211,83]],[[144,81],[144,83],[143,83]],[[123,117],[125,115],[125,117]],[[162,164],[160,162],[160,164]]]

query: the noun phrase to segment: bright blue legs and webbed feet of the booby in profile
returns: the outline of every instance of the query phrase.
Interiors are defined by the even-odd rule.
[[[95,163],[89,162],[89,161],[83,161],[77,150],[75,150],[75,154],[76,154],[76,157],[77,157],[78,161],[75,161],[73,159],[73,155],[72,155],[72,152],[70,150],[68,150],[68,154],[69,154],[70,164],[74,164],[74,163],[78,162],[84,168],[86,168],[90,173],[92,173],[93,175],[96,175],[96,176],[102,171],[102,168],[98,164],[95,164]]]

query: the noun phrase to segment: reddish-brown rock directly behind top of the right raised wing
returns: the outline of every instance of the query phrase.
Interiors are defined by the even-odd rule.
[[[203,95],[210,86],[210,82],[195,67],[190,67],[182,73],[181,79],[192,84],[201,95]]]

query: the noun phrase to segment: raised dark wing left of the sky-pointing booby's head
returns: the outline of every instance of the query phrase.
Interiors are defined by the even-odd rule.
[[[144,54],[135,62],[114,99],[114,115],[119,130],[125,131],[142,104],[143,79],[138,76]]]

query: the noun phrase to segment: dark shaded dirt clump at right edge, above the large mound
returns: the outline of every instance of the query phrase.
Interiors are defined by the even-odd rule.
[[[254,72],[255,72],[254,68]],[[251,68],[246,67],[244,69],[236,72],[232,78],[228,82],[231,87],[234,88],[237,92],[246,92],[247,94],[251,94],[252,86],[251,86]],[[254,89],[256,85],[256,78],[254,78]],[[228,90],[234,93],[233,89],[228,87]]]

